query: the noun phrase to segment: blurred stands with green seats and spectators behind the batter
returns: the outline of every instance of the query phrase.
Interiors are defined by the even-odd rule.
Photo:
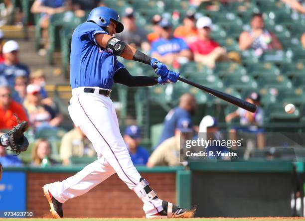
[[[276,154],[263,132],[304,132],[303,0],[2,0],[0,131],[16,125],[14,114],[30,123],[28,151],[16,157],[0,146],[4,167],[95,160],[67,112],[69,53],[73,30],[102,5],[120,13],[125,29],[117,38],[186,79],[259,106],[250,113],[181,82],[115,85],[111,97],[136,165],[180,164],[178,138],[186,132],[230,132],[231,138],[252,132],[242,156],[258,151],[265,160],[285,151]],[[147,65],[119,60],[132,75],[154,75]],[[290,103],[293,114],[284,111]]]

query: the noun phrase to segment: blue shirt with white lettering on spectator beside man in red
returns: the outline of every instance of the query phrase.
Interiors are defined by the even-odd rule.
[[[157,52],[159,55],[164,56],[169,53],[179,53],[185,49],[189,49],[189,47],[182,38],[159,38],[158,40],[152,42],[151,53]]]

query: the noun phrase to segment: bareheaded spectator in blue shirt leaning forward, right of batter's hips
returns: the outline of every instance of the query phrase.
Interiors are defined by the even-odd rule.
[[[178,107],[170,110],[164,119],[164,127],[158,145],[169,137],[174,136],[178,121],[181,118],[191,118],[197,110],[197,103],[193,95],[183,94]]]

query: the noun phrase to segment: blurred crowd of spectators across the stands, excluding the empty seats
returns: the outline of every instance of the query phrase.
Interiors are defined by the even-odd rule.
[[[293,13],[305,14],[305,6],[297,0],[282,1],[293,9]],[[242,0],[221,2],[228,5]],[[185,12],[180,26],[172,22],[174,12],[171,17],[166,14],[155,14],[151,18],[150,33],[137,23],[136,9],[127,7],[122,11],[125,30],[116,37],[142,51],[150,52],[152,57],[175,69],[191,61],[213,70],[218,62],[242,63],[243,51],[251,51],[254,56],[260,58],[266,51],[287,49],[277,37],[277,33],[269,30],[269,26],[265,25],[264,14],[254,12],[249,20],[249,28],[239,33],[239,51],[228,51],[225,45],[212,37],[217,22],[208,16],[203,16],[198,9],[203,4],[203,0],[189,0],[188,3],[192,7]],[[45,54],[50,47],[48,26],[53,14],[73,11],[75,16],[83,17],[88,10],[101,5],[107,6],[107,3],[101,0],[35,0],[30,11],[40,14],[39,25],[42,28],[43,47],[39,54]],[[10,1],[6,1],[7,11],[9,8]],[[299,47],[305,49],[305,32],[300,36],[299,42]],[[48,97],[44,88],[46,84],[44,71],[30,70],[30,67],[22,64],[18,53],[20,53],[18,43],[6,39],[4,33],[0,31],[0,131],[7,131],[16,125],[14,115],[20,120],[28,121],[33,134],[39,134],[41,131],[58,131],[62,126],[63,114],[58,104]],[[260,107],[261,96],[259,92],[251,91],[245,95],[245,99],[258,105],[258,111],[252,114],[237,109],[227,113],[225,121],[229,123],[239,117],[242,127],[231,128],[232,135],[238,130],[254,131],[258,134],[258,147],[263,148],[264,137],[261,133],[264,131],[262,127],[264,110]],[[194,125],[192,116],[197,110],[197,102],[190,93],[185,93],[179,98],[177,107],[171,109],[164,118],[163,131],[157,146],[152,147],[154,151],[151,156],[150,152],[141,146],[140,127],[127,125],[123,138],[134,164],[149,167],[180,165],[181,133],[218,131],[218,119],[215,116],[203,116],[200,125]],[[52,150],[56,149],[54,145],[60,146],[55,158],[53,158],[54,154],[52,155]],[[33,141],[31,150],[30,165],[43,167],[61,163],[69,165],[73,163],[75,157],[94,157],[96,154],[92,144],[78,127],[66,132],[61,137],[60,145],[52,143],[52,140],[47,138],[39,138]],[[7,154],[2,146],[0,146],[0,162],[4,167],[21,165],[21,161]]]

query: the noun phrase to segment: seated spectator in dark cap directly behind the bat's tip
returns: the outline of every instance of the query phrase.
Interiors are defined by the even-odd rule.
[[[229,113],[225,120],[226,122],[231,122],[232,119],[239,117],[240,118],[240,127],[235,127],[230,130],[231,138],[236,140],[236,131],[244,131],[244,132],[256,132],[257,136],[257,145],[258,148],[262,149],[265,146],[265,137],[262,132],[264,132],[264,128],[262,128],[264,123],[264,111],[260,107],[260,100],[261,96],[256,93],[252,92],[247,98],[246,101],[255,104],[258,109],[255,113],[250,111],[244,110],[242,108],[238,108],[234,112]]]

